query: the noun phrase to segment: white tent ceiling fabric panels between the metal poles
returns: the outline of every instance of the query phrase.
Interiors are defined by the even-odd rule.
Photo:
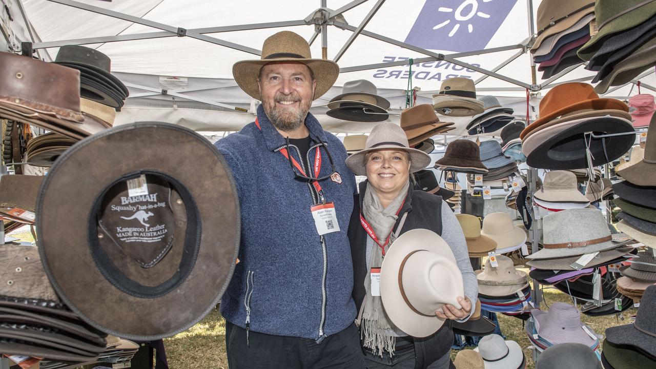
[[[14,14],[20,14],[18,0],[7,0]],[[398,62],[405,58],[427,58],[428,55],[404,49],[391,43],[369,37],[367,32],[377,33],[396,41],[409,43],[431,53],[466,53],[474,50],[493,49],[520,45],[529,37],[527,6],[530,0],[388,0],[367,23],[365,32],[356,37],[346,53],[338,61],[341,68],[356,67],[383,62]],[[240,24],[257,24],[302,20],[313,14],[320,5],[319,0],[300,1],[293,6],[283,7],[276,1],[242,0],[216,2],[209,0],[142,0],[80,1],[94,7],[102,7],[166,24],[173,27],[194,30]],[[327,0],[329,9],[339,9],[347,5],[347,0]],[[376,1],[365,1],[342,15],[348,25],[357,28]],[[533,1],[533,12],[540,1]],[[77,9],[45,0],[22,0],[26,18],[33,27],[33,36],[39,42],[86,39],[113,35],[133,35],[137,33],[161,32],[141,24],[112,18],[104,14]],[[56,16],[53,16],[56,14]],[[272,16],[276,14],[276,16]],[[535,18],[535,14],[533,14]],[[14,18],[18,18],[14,16]],[[20,22],[13,22],[12,29],[19,41],[29,41],[27,28]],[[392,25],[392,26],[390,26]],[[320,28],[320,27],[319,27]],[[315,32],[314,25],[262,30],[243,30],[236,32],[209,33],[224,41],[237,43],[256,50],[261,49],[266,37],[280,30],[297,32],[310,39]],[[327,54],[329,58],[342,49],[352,35],[350,30],[337,26],[327,28]],[[243,112],[229,111],[221,106],[237,106],[252,110],[255,106],[232,79],[232,64],[237,60],[258,58],[254,54],[215,45],[192,37],[160,37],[131,41],[88,44],[112,58],[112,72],[129,85],[131,97],[123,111],[117,116],[117,123],[138,120],[171,121],[186,125],[199,131],[235,131],[253,116]],[[46,49],[54,58],[58,49]],[[502,76],[531,84],[529,53],[521,53],[522,48],[509,49],[495,53],[484,53],[457,58],[485,70],[493,70]],[[321,57],[321,35],[312,44],[314,57]],[[519,54],[519,55],[518,55]],[[43,53],[41,54],[43,56]],[[514,56],[514,60],[511,60]],[[502,68],[497,68],[506,63]],[[312,113],[327,129],[335,132],[367,132],[371,123],[335,121],[325,116],[327,101],[341,92],[346,81],[368,79],[379,87],[380,95],[392,102],[393,112],[399,113],[405,107],[405,89],[408,79],[408,65],[391,66],[345,72],[340,74],[335,87],[314,102]],[[464,66],[442,60],[417,63],[412,66],[413,86],[419,87],[418,103],[430,103],[432,93],[440,89],[441,81],[448,77],[466,76],[475,81],[484,74]],[[653,71],[652,71],[653,72]],[[540,74],[540,73],[539,73]],[[162,81],[161,76],[183,77],[178,85]],[[575,68],[554,83],[582,79],[593,76],[592,72]],[[185,80],[186,78],[186,80]],[[539,75],[538,75],[539,78]],[[656,85],[656,75],[649,74],[642,79],[647,85]],[[541,79],[537,83],[543,83]],[[140,86],[142,88],[140,88]],[[167,89],[171,94],[161,95],[158,91]],[[485,77],[477,84],[478,95],[501,97],[503,104],[515,108],[516,116],[525,116],[525,89],[496,77]],[[643,92],[644,92],[643,88]],[[541,95],[546,93],[541,91]],[[631,85],[617,89],[609,94],[613,97],[635,95],[637,89]],[[197,101],[185,98],[189,97]],[[537,99],[532,104],[537,109]],[[533,110],[533,108],[531,108]],[[167,114],[166,112],[169,112]],[[537,112],[531,112],[531,115]],[[396,118],[395,118],[396,117]],[[392,116],[398,121],[398,116]],[[459,119],[455,135],[464,135],[466,121]]]

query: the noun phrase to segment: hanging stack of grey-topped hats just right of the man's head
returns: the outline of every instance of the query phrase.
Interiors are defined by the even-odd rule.
[[[385,121],[390,102],[378,95],[376,86],[366,79],[348,81],[342,93],[328,102],[327,116],[348,121]]]

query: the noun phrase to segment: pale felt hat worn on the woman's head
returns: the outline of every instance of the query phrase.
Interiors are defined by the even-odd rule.
[[[365,162],[367,153],[376,150],[391,149],[405,151],[409,154],[410,173],[420,171],[430,163],[430,156],[428,154],[410,147],[405,132],[403,132],[401,127],[390,121],[384,121],[371,129],[365,148],[346,158],[346,165],[356,175],[367,175],[367,163]]]

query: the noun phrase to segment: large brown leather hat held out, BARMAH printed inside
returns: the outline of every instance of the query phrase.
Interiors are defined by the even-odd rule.
[[[140,154],[155,151],[157,163]],[[129,339],[173,336],[201,320],[239,250],[228,165],[207,140],[169,123],[120,125],[77,142],[45,177],[36,214],[41,261],[62,301]]]

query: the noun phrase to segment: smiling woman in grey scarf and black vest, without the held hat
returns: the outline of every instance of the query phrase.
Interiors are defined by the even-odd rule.
[[[356,175],[366,175],[359,185],[348,236],[354,267],[353,297],[358,307],[358,323],[367,366],[371,368],[449,368],[453,332],[449,320],[432,336],[408,336],[384,313],[380,296],[371,293],[372,267],[380,267],[383,250],[396,237],[411,229],[433,230],[449,244],[462,273],[465,296],[457,301],[462,309],[444,305],[435,315],[465,321],[476,301],[478,284],[472,271],[462,228],[440,196],[413,190],[410,173],[424,169],[430,156],[409,148],[401,127],[384,122],[376,125],[364,150],[353,154],[346,164]],[[368,225],[369,232],[364,225]],[[371,232],[371,233],[370,233]],[[392,246],[393,247],[393,246]],[[415,366],[416,364],[416,366]]]

